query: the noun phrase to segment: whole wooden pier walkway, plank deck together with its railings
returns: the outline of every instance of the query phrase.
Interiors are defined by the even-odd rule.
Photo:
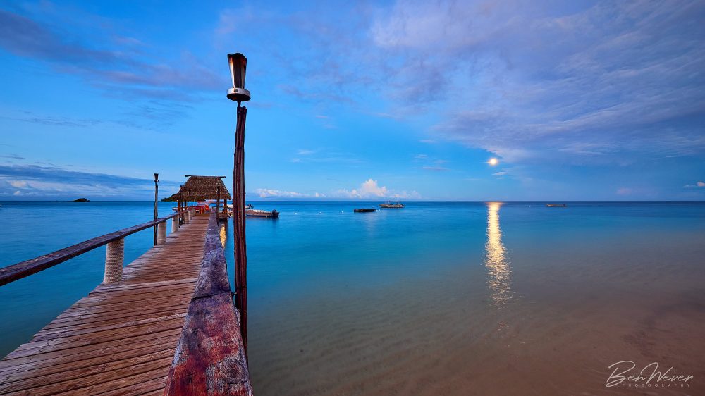
[[[97,286],[0,361],[0,395],[252,395],[216,216],[185,213],[180,226],[173,216],[178,232],[121,280]],[[165,231],[166,219],[135,228]],[[32,265],[56,264],[25,261],[2,268],[0,280]]]

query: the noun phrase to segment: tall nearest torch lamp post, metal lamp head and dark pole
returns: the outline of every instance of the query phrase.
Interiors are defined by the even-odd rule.
[[[243,54],[228,54],[233,87],[228,99],[238,102],[238,120],[235,127],[235,163],[233,166],[233,234],[235,235],[235,307],[240,311],[240,331],[247,357],[247,246],[245,244],[245,118],[250,100],[245,89],[247,58]]]

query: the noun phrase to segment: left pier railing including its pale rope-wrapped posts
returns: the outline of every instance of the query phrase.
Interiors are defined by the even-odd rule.
[[[183,215],[183,217],[182,217]],[[166,242],[166,221],[171,218],[177,218],[171,223],[171,231],[178,231],[180,219],[183,218],[184,223],[190,223],[194,215],[193,209],[179,211],[156,220],[133,225],[130,228],[115,231],[93,239],[80,242],[76,245],[57,250],[56,252],[45,254],[44,256],[36,257],[27,261],[22,261],[18,264],[0,268],[0,286],[15,280],[25,278],[33,273],[44,271],[47,268],[61,264],[63,261],[73,259],[75,256],[80,256],[85,252],[90,252],[93,249],[108,245],[105,251],[105,277],[104,283],[113,283],[122,279],[123,276],[123,258],[125,256],[125,237],[132,235],[141,230],[154,227],[157,225],[157,245]]]

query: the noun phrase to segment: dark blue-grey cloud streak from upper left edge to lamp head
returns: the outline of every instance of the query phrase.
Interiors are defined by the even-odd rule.
[[[35,8],[33,11],[40,13],[42,10]],[[226,77],[204,67],[188,51],[180,52],[179,58],[168,63],[147,61],[144,54],[135,49],[135,44],[141,43],[139,39],[110,32],[118,25],[102,23],[109,32],[93,29],[90,34],[82,35],[78,30],[69,32],[32,15],[0,10],[0,47],[17,56],[47,62],[61,73],[80,75],[94,86],[109,91],[128,92],[125,86],[135,88],[133,94],[168,89],[173,92],[170,99],[179,101],[185,95],[176,94],[178,88],[223,87]],[[106,34],[112,34],[113,39],[104,37]]]

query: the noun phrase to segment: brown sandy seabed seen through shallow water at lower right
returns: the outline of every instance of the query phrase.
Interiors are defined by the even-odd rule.
[[[258,395],[704,395],[698,238],[503,251],[505,268],[488,252],[318,290],[250,318],[252,383]],[[618,361],[693,379],[608,388]]]

